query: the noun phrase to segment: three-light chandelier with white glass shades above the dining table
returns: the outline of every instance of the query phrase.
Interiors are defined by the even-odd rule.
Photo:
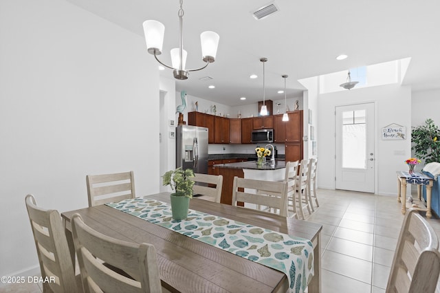
[[[171,50],[171,63],[172,66],[168,66],[157,58],[157,55],[162,54],[162,45],[164,43],[165,26],[159,21],[148,20],[144,21],[144,34],[146,41],[146,48],[148,53],[153,54],[160,64],[173,69],[173,74],[176,79],[184,80],[188,78],[189,72],[201,70],[208,66],[209,63],[215,61],[215,55],[217,54],[217,47],[219,46],[220,36],[216,32],[202,32],[200,34],[201,41],[201,54],[203,61],[206,64],[198,69],[185,69],[186,63],[186,51],[184,50],[183,34],[184,34],[184,9],[182,8],[183,0],[180,0],[180,8],[177,12],[179,16],[179,47]]]

